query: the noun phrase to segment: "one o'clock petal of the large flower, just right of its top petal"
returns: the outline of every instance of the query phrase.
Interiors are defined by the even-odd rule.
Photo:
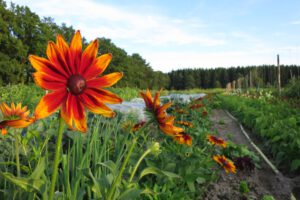
[[[91,66],[91,64],[96,59],[98,53],[98,40],[94,40],[91,42],[87,48],[84,50],[82,57],[81,57],[81,66],[79,73],[84,73],[87,68]]]

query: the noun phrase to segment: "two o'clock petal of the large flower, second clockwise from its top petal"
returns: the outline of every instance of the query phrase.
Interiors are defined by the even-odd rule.
[[[91,78],[95,78],[102,74],[107,66],[109,65],[110,61],[112,59],[111,54],[103,54],[96,58],[92,65],[83,72],[83,77],[85,77],[87,80]]]

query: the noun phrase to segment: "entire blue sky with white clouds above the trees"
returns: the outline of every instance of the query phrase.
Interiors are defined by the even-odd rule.
[[[299,0],[12,0],[154,70],[300,65]],[[101,44],[100,44],[101,45]]]

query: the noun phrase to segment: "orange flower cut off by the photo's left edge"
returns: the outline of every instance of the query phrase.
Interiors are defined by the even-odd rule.
[[[0,110],[4,117],[4,121],[0,122],[0,129],[2,135],[7,134],[6,126],[14,128],[24,128],[32,124],[35,119],[33,117],[28,117],[29,111],[27,111],[27,106],[22,107],[21,103],[15,106],[14,103],[9,107],[6,103],[0,104]]]

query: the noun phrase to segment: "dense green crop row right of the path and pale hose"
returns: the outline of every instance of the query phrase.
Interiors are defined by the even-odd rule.
[[[283,102],[219,95],[222,107],[258,135],[275,164],[300,169],[300,110]]]

